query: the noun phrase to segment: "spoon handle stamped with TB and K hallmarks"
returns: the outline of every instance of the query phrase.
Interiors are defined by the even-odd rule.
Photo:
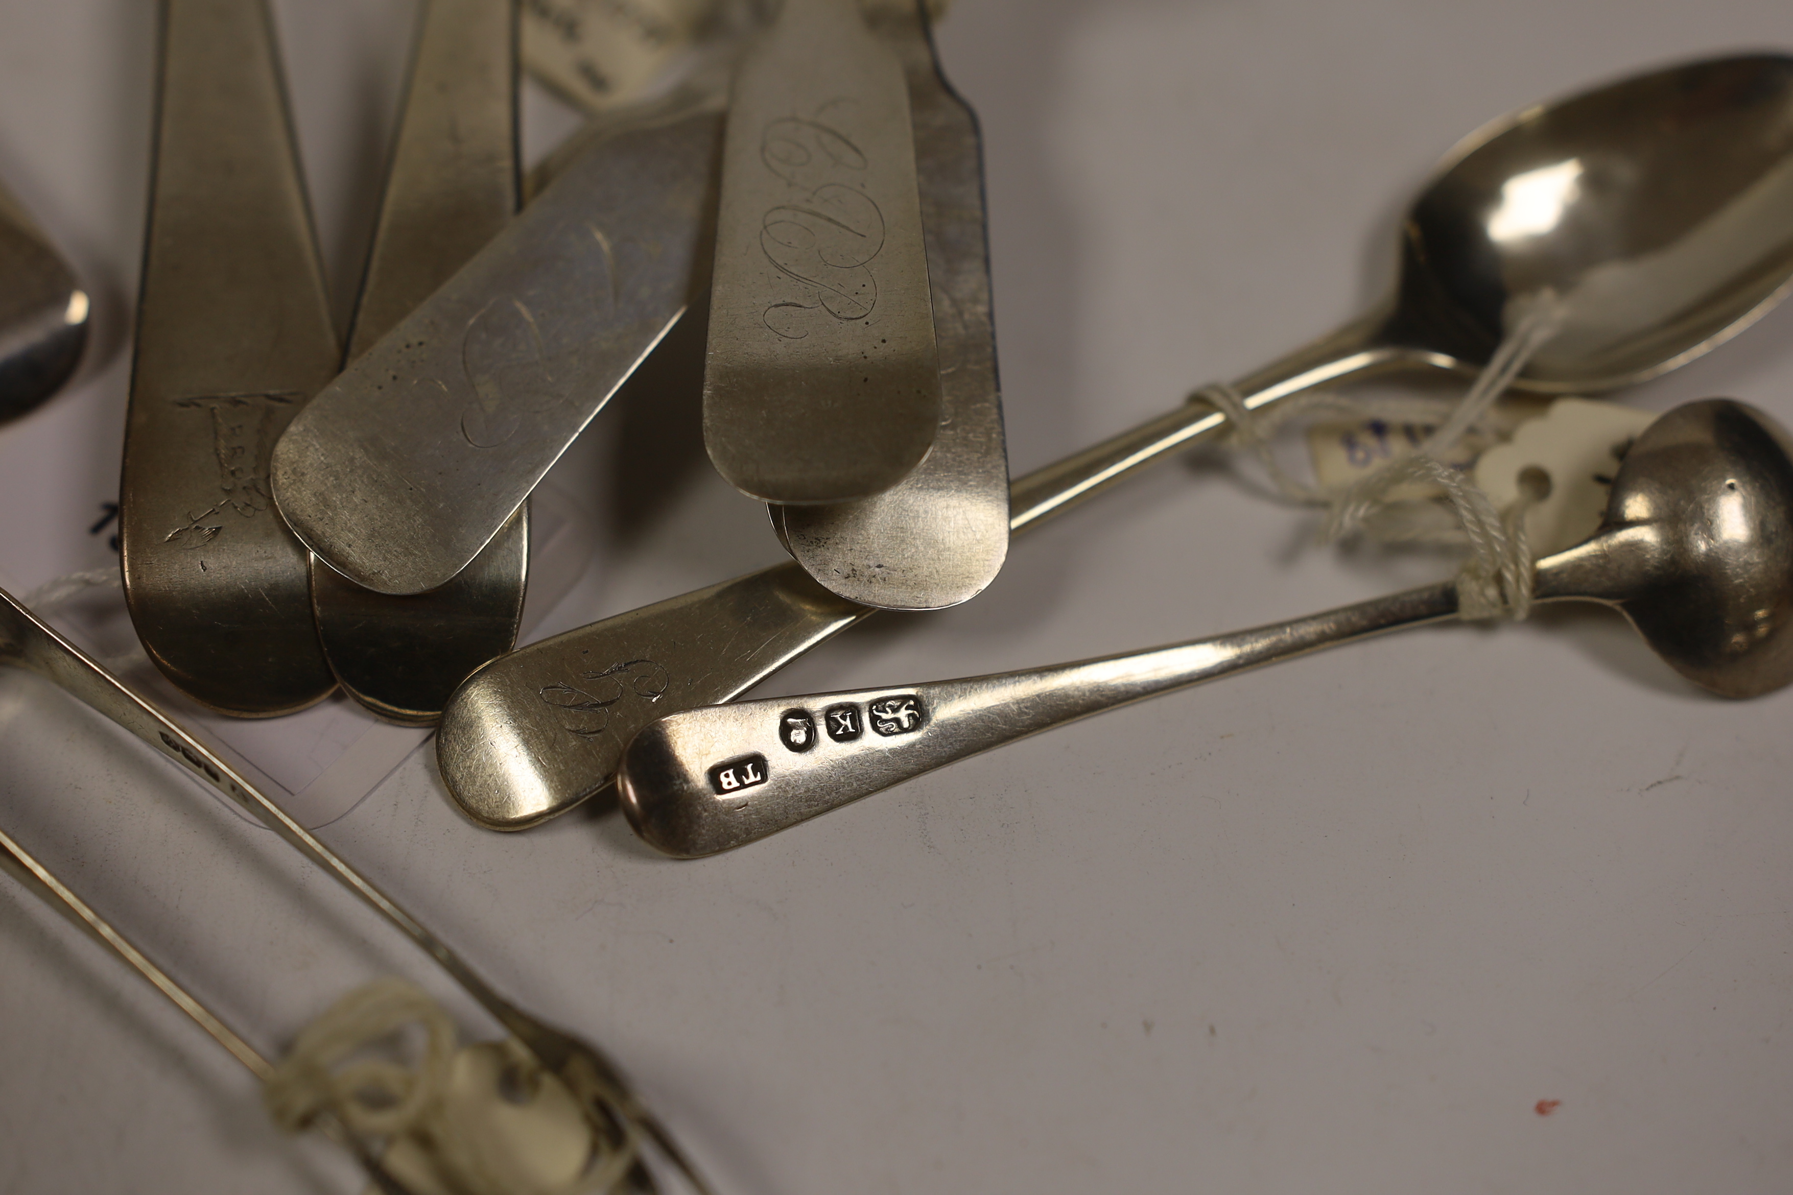
[[[1451,582],[1173,647],[818,697],[708,706],[644,727],[622,808],[680,858],[764,838],[923,772],[1092,713],[1456,615]]]

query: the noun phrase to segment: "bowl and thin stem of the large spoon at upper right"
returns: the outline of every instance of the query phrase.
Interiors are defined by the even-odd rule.
[[[1687,63],[1497,120],[1438,167],[1400,245],[1395,297],[1234,382],[1248,410],[1390,369],[1477,373],[1546,294],[1562,324],[1517,389],[1594,394],[1684,365],[1793,278],[1793,57]],[[1144,423],[1017,486],[1015,518],[1225,426],[1207,403]]]

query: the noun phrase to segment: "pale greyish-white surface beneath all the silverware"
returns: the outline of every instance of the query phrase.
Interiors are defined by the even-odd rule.
[[[412,5],[276,9],[346,301]],[[959,0],[940,43],[986,136],[1020,473],[1372,301],[1461,134],[1641,66],[1793,48],[1793,13]],[[152,47],[147,0],[0,0],[0,177],[99,305],[81,382],[0,428],[0,469],[91,446],[0,520],[0,570],[115,496]],[[533,152],[567,127],[533,100]],[[1711,394],[1793,421],[1793,310],[1626,400]],[[689,385],[638,387],[577,451],[602,564],[559,625],[778,559],[703,459]],[[1148,647],[1447,568],[1311,530],[1198,453],[1017,543],[972,604],[880,616],[762,692]],[[1158,699],[706,862],[602,806],[482,831],[427,749],[323,835],[610,1048],[719,1191],[1770,1193],[1793,1182],[1789,724],[1793,695],[1705,697],[1617,616],[1563,609]],[[385,969],[434,984],[271,835],[16,675],[0,826],[265,1050]],[[0,1191],[122,1190],[359,1188],[0,881]]]

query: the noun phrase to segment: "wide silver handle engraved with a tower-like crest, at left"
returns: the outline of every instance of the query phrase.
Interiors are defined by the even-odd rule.
[[[267,453],[341,360],[264,0],[169,0],[120,482],[149,658],[244,717],[335,688]]]

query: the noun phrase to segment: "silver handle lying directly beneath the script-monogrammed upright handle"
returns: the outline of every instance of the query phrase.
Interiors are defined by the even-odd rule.
[[[909,77],[940,430],[927,459],[882,494],[771,507],[771,516],[803,572],[834,593],[884,609],[941,609],[995,580],[1009,539],[983,154],[977,116],[941,77],[920,9],[880,5],[868,20]]]

